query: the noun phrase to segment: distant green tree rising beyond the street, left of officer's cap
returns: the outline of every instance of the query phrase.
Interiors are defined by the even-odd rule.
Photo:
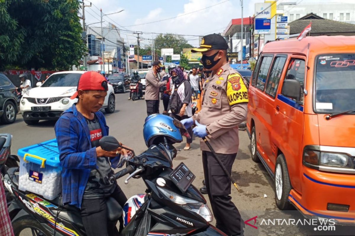
[[[159,34],[155,38],[155,50],[161,56],[160,50],[162,48],[173,48],[174,54],[180,54],[182,52],[182,48],[191,48],[192,45],[187,43],[187,40],[179,35],[174,34]]]

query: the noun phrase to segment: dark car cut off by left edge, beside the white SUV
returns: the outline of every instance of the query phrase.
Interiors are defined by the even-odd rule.
[[[18,111],[16,86],[0,73],[0,119],[4,124],[15,122]]]

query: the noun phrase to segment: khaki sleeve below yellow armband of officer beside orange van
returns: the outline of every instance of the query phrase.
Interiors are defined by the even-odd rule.
[[[247,103],[240,103],[231,107],[230,113],[225,115],[222,119],[214,121],[207,125],[208,133],[211,138],[215,139],[229,131],[231,128],[235,128],[241,122],[246,120],[248,111]]]

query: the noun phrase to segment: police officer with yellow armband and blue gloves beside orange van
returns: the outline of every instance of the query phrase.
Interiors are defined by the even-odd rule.
[[[204,36],[199,48],[191,52],[202,52],[202,64],[212,74],[202,88],[201,111],[181,122],[193,133],[207,140],[231,173],[237,155],[239,138],[238,124],[246,120],[248,93],[239,73],[232,69],[226,58],[228,44],[218,34]],[[213,158],[212,152],[201,139],[204,178],[212,211],[218,229],[227,235],[242,235],[244,222],[229,196],[231,182]]]

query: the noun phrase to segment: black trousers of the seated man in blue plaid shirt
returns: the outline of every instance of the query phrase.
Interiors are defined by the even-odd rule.
[[[116,189],[110,197],[115,198],[115,200],[120,204],[122,208],[127,201],[126,195],[118,185],[116,185]],[[83,220],[84,228],[88,236],[119,235],[118,229],[116,228],[117,222],[108,221],[107,219],[106,199],[107,198],[83,198],[81,203],[81,218]]]

